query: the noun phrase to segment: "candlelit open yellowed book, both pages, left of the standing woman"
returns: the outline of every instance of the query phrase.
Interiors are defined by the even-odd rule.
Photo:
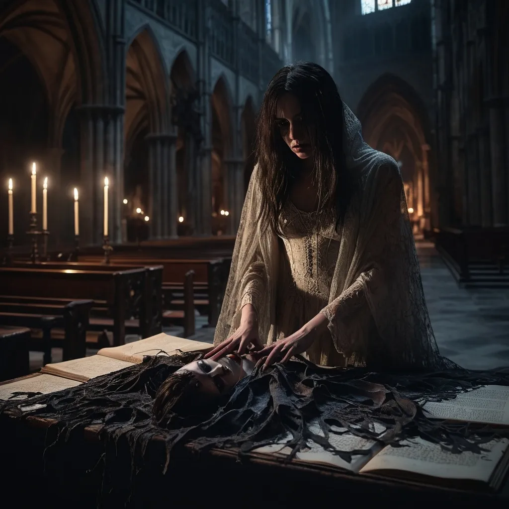
[[[175,355],[181,352],[208,352],[213,346],[210,343],[187,340],[183,337],[157,334],[145,340],[134,341],[119,347],[102,348],[97,355],[81,359],[66,360],[55,364],[46,364],[41,373],[87,382],[109,373],[120,371],[125,367],[143,362],[148,355]]]

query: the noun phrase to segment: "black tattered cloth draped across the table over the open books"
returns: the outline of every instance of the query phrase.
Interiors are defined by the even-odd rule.
[[[51,418],[58,437],[46,443],[46,451],[62,446],[71,433],[90,425],[102,425],[104,442],[102,485],[115,477],[115,447],[127,439],[131,451],[131,475],[143,468],[146,447],[155,436],[166,444],[167,468],[174,447],[190,444],[196,449],[236,448],[245,454],[253,448],[279,443],[289,435],[295,454],[314,440],[349,461],[354,453],[336,451],[328,437],[338,428],[384,444],[420,436],[452,453],[480,452],[494,436],[509,436],[509,429],[472,427],[429,419],[419,401],[443,401],[480,385],[509,385],[509,368],[479,372],[463,369],[441,372],[373,373],[361,368],[323,368],[302,360],[258,370],[242,379],[228,401],[212,417],[175,416],[169,429],[152,419],[154,395],[160,384],[196,354],[148,357],[142,364],[90,380],[60,392],[36,395],[30,400],[0,403],[0,413],[23,419],[27,415]],[[22,412],[19,407],[44,404]],[[316,425],[322,433],[317,434]],[[380,426],[385,432],[380,435]],[[331,428],[333,427],[333,428]],[[323,435],[323,436],[322,436]],[[110,451],[108,453],[108,451]],[[53,451],[54,452],[54,451]],[[365,452],[365,451],[364,451]],[[109,473],[108,473],[109,469]],[[125,479],[124,479],[125,480]]]

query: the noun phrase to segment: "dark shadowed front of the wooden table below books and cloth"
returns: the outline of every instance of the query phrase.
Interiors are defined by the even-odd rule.
[[[66,506],[96,506],[104,453],[104,443],[98,436],[100,427],[76,431],[58,452],[44,451],[47,430],[55,422],[38,417],[19,420],[0,415],[2,459],[9,465],[5,482],[10,487],[30,486],[31,493],[23,496],[34,495],[39,500],[44,497]],[[47,439],[51,442],[51,434]],[[115,447],[108,449],[107,454],[114,450]],[[117,468],[118,463],[119,473],[122,469],[128,472],[131,460],[122,440],[117,444],[116,454],[115,466]],[[129,484],[128,474],[122,474],[122,482],[102,499],[103,506],[122,506],[119,493],[131,494],[129,507],[164,507],[169,502],[173,507],[198,507],[206,500],[213,502],[213,507],[233,504],[264,509],[328,507],[331,503],[362,504],[362,507],[381,504],[394,508],[506,509],[509,506],[507,480],[498,494],[479,493],[351,474],[332,467],[285,463],[256,453],[248,454],[239,463],[236,451],[213,449],[197,454],[189,446],[172,452],[166,475],[162,475],[163,464],[164,443],[156,437],[150,441],[144,468],[133,476],[132,484]]]

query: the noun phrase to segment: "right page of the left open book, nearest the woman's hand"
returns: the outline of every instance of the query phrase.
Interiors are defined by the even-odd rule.
[[[175,355],[178,353],[177,350],[182,352],[208,352],[212,348],[214,347],[210,343],[170,336],[161,332],[155,336],[147,337],[145,340],[134,341],[119,347],[102,348],[97,354],[139,364],[143,362],[146,355]]]

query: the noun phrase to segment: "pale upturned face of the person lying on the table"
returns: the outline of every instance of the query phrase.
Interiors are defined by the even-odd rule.
[[[197,380],[197,390],[217,397],[228,393],[233,386],[246,376],[242,368],[242,358],[236,354],[217,360],[200,359],[182,366],[177,373],[190,371]]]

